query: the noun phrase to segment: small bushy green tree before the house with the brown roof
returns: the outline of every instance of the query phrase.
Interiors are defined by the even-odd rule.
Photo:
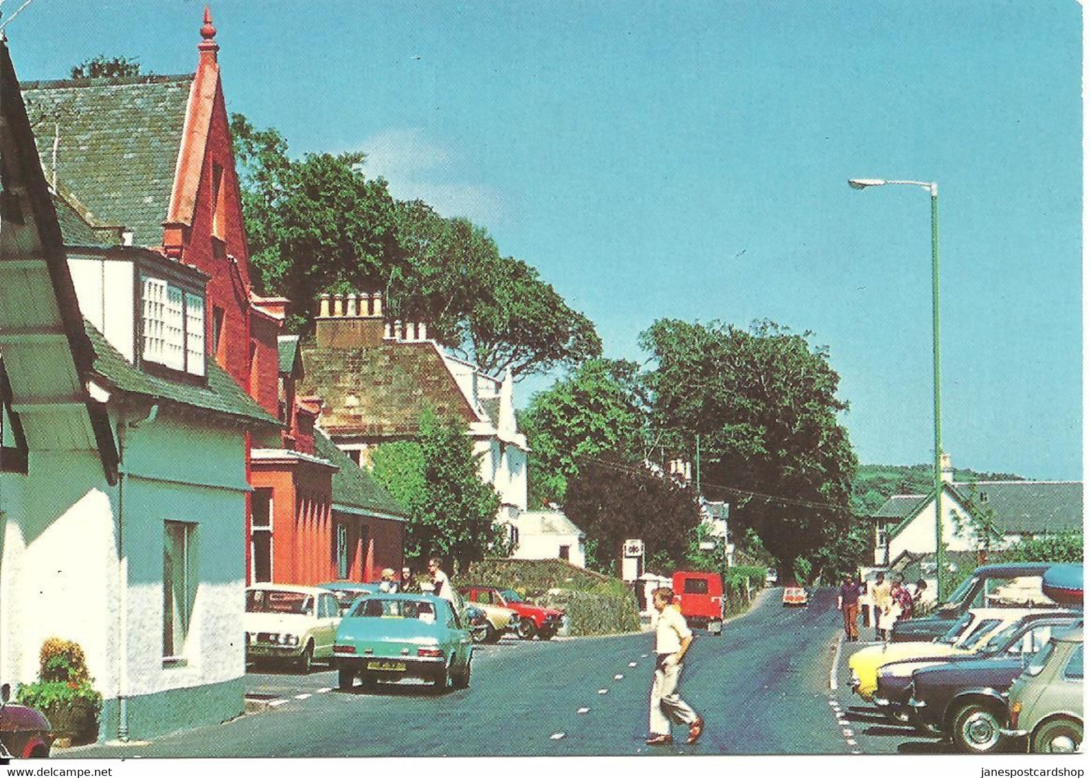
[[[412,441],[377,446],[372,462],[375,478],[409,514],[408,559],[443,556],[465,570],[502,549],[500,498],[478,475],[480,458],[460,421],[428,410]]]

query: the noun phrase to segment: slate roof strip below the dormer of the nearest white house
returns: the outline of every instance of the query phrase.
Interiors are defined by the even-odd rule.
[[[112,388],[224,414],[244,422],[280,427],[280,422],[243,392],[214,360],[206,362],[208,375],[204,385],[169,381],[131,364],[86,320],[84,327],[95,350],[93,369]]]

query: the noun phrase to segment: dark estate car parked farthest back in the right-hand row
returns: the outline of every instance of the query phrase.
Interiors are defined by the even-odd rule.
[[[895,624],[890,639],[931,641],[971,608],[1056,607],[1042,594],[1042,575],[1051,566],[1051,562],[1008,562],[978,567],[933,613]]]

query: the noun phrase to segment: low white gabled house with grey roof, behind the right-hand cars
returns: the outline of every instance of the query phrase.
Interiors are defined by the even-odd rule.
[[[955,481],[949,463],[943,468],[942,536],[948,551],[975,551],[968,528],[973,490],[992,508],[1002,538],[990,548],[1003,549],[1020,538],[1083,528],[1083,484],[1079,481]],[[957,515],[958,519],[952,516]],[[891,564],[903,553],[936,552],[936,501],[932,494],[897,494],[872,516],[875,564]]]

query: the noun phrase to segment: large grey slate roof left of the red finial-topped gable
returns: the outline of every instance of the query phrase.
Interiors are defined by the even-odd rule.
[[[139,246],[163,242],[193,75],[21,84],[47,176],[57,173],[98,222]]]

